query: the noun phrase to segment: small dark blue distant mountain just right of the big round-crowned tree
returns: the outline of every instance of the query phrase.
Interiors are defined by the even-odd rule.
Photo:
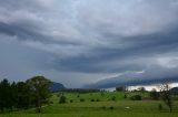
[[[50,86],[50,92],[59,92],[61,89],[66,89],[66,87],[61,83],[53,82]]]

